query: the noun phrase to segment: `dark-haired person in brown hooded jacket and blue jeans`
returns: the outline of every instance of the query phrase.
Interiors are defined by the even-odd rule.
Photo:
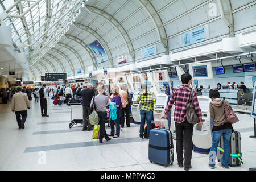
[[[220,143],[221,136],[223,135],[224,154],[218,166],[224,169],[229,169],[230,138],[234,129],[232,124],[229,123],[229,121],[226,119],[224,100],[220,99],[220,93],[218,90],[211,89],[209,91],[209,97],[212,98],[212,102],[210,102],[210,117],[214,119],[214,125],[212,127],[212,147],[210,148],[209,167],[211,169],[215,168],[217,147]],[[226,104],[232,108],[228,101],[226,101]]]

